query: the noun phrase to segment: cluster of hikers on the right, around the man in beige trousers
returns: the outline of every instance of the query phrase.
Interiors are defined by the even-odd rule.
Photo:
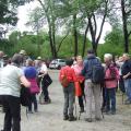
[[[95,66],[104,68],[104,80],[100,83],[93,82],[93,67]],[[67,78],[67,86],[62,84],[64,78]],[[59,81],[63,86],[64,94],[63,120],[76,120],[73,110],[78,82],[82,92],[79,95],[80,112],[85,111],[85,121],[94,120],[93,104],[95,104],[96,121],[103,119],[103,112],[116,115],[118,87],[127,95],[124,104],[131,104],[131,60],[128,53],[123,53],[116,60],[111,53],[105,53],[104,63],[102,63],[94,51],[88,49],[85,60],[81,56],[78,56],[75,60],[67,60],[67,66],[60,70]]]

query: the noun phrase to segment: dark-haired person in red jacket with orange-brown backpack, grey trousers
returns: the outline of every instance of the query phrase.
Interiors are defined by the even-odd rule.
[[[59,81],[63,87],[64,95],[63,120],[75,121],[73,104],[75,99],[74,82],[76,82],[76,76],[74,70],[71,68],[73,60],[69,59],[66,63],[67,66],[61,68],[59,73]]]

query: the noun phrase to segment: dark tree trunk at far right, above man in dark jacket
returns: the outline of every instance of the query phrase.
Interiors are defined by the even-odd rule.
[[[129,37],[128,37],[127,14],[126,14],[124,0],[121,0],[121,11],[122,11],[122,23],[123,23],[123,36],[124,36],[124,52],[129,52]]]

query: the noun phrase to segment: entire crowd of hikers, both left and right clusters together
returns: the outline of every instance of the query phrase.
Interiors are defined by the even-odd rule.
[[[38,111],[36,95],[41,91],[44,103],[51,102],[48,93],[49,80],[46,63],[38,57],[32,60],[25,50],[15,53],[11,59],[4,60],[0,51],[0,105],[3,106],[4,126],[1,131],[21,131],[21,86],[27,87],[29,95],[28,112]],[[104,80],[93,82],[95,66],[104,68]],[[46,81],[46,80],[49,81]],[[131,61],[128,53],[114,60],[111,53],[104,56],[104,63],[92,49],[87,50],[85,60],[81,56],[68,59],[67,66],[59,72],[59,81],[67,81],[63,86],[64,106],[63,120],[74,121],[74,102],[78,96],[80,112],[86,112],[85,121],[93,121],[93,104],[95,104],[95,120],[103,119],[103,111],[107,115],[116,114],[116,91],[119,87],[127,94],[124,104],[131,104]],[[49,83],[48,83],[49,82]],[[78,90],[79,88],[79,90]],[[34,104],[34,110],[33,110]]]

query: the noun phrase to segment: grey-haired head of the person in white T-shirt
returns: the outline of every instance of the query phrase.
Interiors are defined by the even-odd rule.
[[[14,56],[12,57],[12,62],[17,64],[17,66],[21,66],[23,63],[23,56],[20,55],[20,53],[14,53]]]

